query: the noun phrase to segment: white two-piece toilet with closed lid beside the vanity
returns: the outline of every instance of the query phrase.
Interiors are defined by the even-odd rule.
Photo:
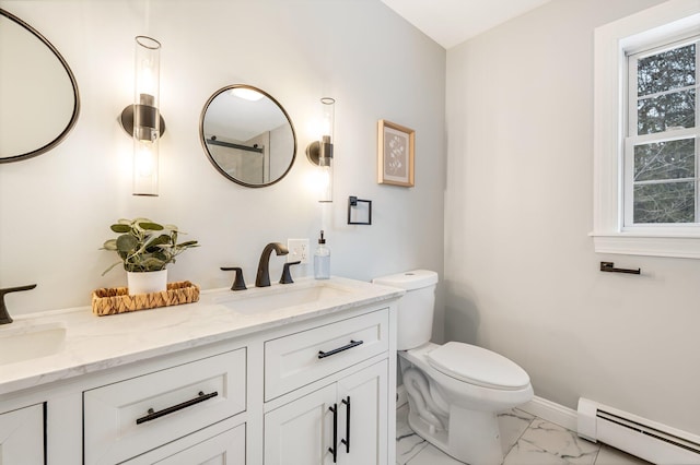
[[[416,270],[373,283],[406,289],[398,303],[397,348],[411,429],[458,461],[501,464],[497,413],[533,398],[525,370],[481,347],[430,342],[438,273]]]

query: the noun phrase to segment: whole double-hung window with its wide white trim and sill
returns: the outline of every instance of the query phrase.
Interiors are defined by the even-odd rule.
[[[700,258],[700,4],[595,32],[596,252]]]

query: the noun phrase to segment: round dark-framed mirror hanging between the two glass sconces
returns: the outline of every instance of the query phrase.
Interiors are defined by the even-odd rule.
[[[287,110],[252,85],[214,92],[201,111],[199,136],[214,168],[248,188],[280,181],[296,158],[296,133]]]

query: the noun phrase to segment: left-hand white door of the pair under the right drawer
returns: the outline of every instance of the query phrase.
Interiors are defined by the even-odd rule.
[[[332,463],[336,385],[331,384],[265,415],[265,465]]]

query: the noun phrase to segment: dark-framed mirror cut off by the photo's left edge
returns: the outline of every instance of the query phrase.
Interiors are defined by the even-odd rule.
[[[54,148],[80,114],[68,62],[38,31],[0,9],[0,163]]]

